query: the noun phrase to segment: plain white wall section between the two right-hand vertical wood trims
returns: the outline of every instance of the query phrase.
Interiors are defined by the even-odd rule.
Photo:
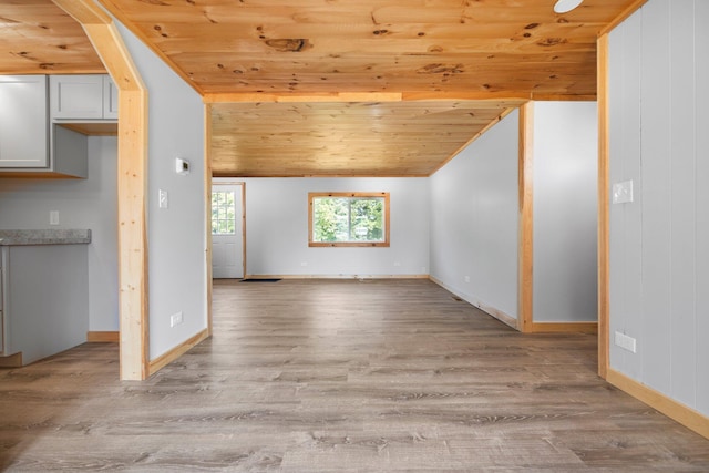
[[[596,321],[596,102],[535,102],[533,146],[533,319]]]

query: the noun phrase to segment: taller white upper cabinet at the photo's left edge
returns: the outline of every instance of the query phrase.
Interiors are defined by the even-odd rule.
[[[0,75],[0,167],[48,167],[47,75]]]

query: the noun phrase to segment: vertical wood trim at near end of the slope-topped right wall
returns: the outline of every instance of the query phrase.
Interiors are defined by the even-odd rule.
[[[534,103],[527,102],[520,107],[520,243],[517,269],[518,329],[531,332],[533,329],[533,254],[534,254],[534,213],[533,213],[533,146],[534,146]]]

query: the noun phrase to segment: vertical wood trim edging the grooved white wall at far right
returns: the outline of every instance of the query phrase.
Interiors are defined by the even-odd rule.
[[[608,34],[598,38],[598,376],[609,366]]]

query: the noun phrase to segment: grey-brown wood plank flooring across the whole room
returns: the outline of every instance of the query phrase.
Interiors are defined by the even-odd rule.
[[[217,281],[145,382],[117,346],[0,370],[0,470],[708,472],[709,440],[428,280]]]

